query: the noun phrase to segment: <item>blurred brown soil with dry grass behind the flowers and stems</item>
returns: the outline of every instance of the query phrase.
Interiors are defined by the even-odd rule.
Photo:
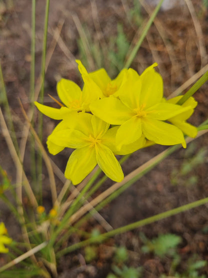
[[[187,1],[190,2],[190,1]],[[41,46],[43,35],[44,1],[36,1],[36,82],[41,64]],[[185,3],[185,2],[184,2]],[[194,27],[190,12],[185,4],[175,6],[168,11],[161,11],[146,39],[131,65],[139,73],[152,62],[158,63],[158,70],[164,79],[164,95],[170,95],[175,89],[188,80],[193,74],[207,64],[208,48],[208,13],[202,5],[202,1],[192,1],[197,27]],[[47,93],[56,96],[56,81],[60,77],[68,78],[81,84],[77,72],[74,57],[80,58],[77,45],[79,38],[74,19],[78,17],[81,24],[87,27],[92,42],[101,45],[110,45],[109,39],[116,36],[116,25],[122,24],[124,33],[129,42],[135,43],[138,36],[138,18],[129,18],[129,9],[133,7],[133,1],[121,0],[76,0],[50,2],[49,27],[48,27],[48,52],[52,51],[54,44],[54,31],[60,25],[62,30],[60,38],[52,51],[52,56],[45,75],[45,96]],[[148,8],[152,11],[152,8]],[[30,2],[27,0],[1,1],[0,2],[0,60],[7,90],[7,97],[12,112],[15,131],[18,141],[21,139],[23,128],[23,117],[18,104],[18,98],[27,109],[29,106],[29,70],[30,70]],[[96,14],[97,13],[97,14]],[[141,8],[141,15],[146,21],[146,11]],[[56,30],[57,31],[57,30]],[[200,31],[202,35],[200,35]],[[116,49],[115,49],[116,51]],[[203,56],[202,56],[203,55]],[[102,61],[107,67],[109,61]],[[90,70],[97,69],[95,61],[89,59]],[[112,75],[115,75],[115,71]],[[113,76],[112,76],[113,77]],[[194,95],[198,106],[191,117],[191,123],[199,125],[208,117],[208,85],[202,86]],[[45,103],[48,97],[45,97]],[[35,113],[37,117],[37,113]],[[44,117],[44,140],[56,124],[53,120]],[[36,119],[35,119],[36,121]],[[207,196],[207,135],[194,141],[192,147],[186,150],[180,149],[167,159],[159,163],[153,170],[140,180],[135,182],[129,189],[122,193],[116,200],[102,209],[101,215],[113,227],[119,227],[148,216],[166,211],[168,209],[204,198]],[[185,161],[192,161],[198,151],[204,148],[204,159],[202,163],[194,166],[186,175],[181,174]],[[124,163],[124,173],[137,168],[149,158],[165,149],[163,146],[152,146],[132,155],[132,158]],[[4,138],[0,138],[0,165],[5,169],[15,182],[14,165],[8,153]],[[52,160],[61,170],[64,170],[68,151],[52,157]],[[24,161],[25,171],[30,179],[30,161],[26,156]],[[191,185],[188,179],[197,177],[197,181]],[[47,177],[43,176],[43,183],[47,184]],[[176,181],[174,183],[174,181]],[[58,190],[62,184],[58,181]],[[106,182],[101,190],[109,186]],[[45,206],[51,206],[49,189],[45,187]],[[171,259],[165,257],[160,259],[154,254],[143,254],[140,251],[142,241],[139,232],[143,232],[151,239],[161,233],[174,233],[182,238],[177,248],[181,256],[177,268],[179,273],[184,272],[187,260],[193,254],[197,259],[208,258],[208,214],[207,206],[203,205],[185,213],[160,220],[142,228],[117,235],[106,244],[98,247],[96,259],[90,263],[84,261],[83,250],[62,257],[58,265],[58,275],[63,277],[106,277],[109,273],[114,252],[113,246],[125,246],[129,251],[128,266],[143,266],[142,277],[159,277],[161,273],[168,275]],[[19,232],[13,217],[0,201],[0,221],[4,221],[9,235],[16,238]],[[90,220],[83,228],[90,230],[94,227],[102,229],[95,220]],[[201,272],[208,276],[208,268],[202,268]]]

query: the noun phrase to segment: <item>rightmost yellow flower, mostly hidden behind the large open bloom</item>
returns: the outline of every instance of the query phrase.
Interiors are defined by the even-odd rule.
[[[167,103],[177,103],[182,96],[178,96],[169,100],[166,100]],[[188,118],[193,114],[194,108],[196,107],[197,102],[194,100],[193,97],[187,99],[181,106],[182,107],[189,107],[189,109],[177,116],[174,116],[170,119],[167,119],[170,123],[174,126],[178,127],[184,134],[189,137],[194,138],[197,135],[197,128],[193,125],[186,122]]]

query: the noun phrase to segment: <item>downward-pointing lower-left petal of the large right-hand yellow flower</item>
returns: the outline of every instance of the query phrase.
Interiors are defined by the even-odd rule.
[[[141,120],[134,116],[118,128],[115,143],[120,149],[122,145],[128,145],[138,140],[141,134]]]

